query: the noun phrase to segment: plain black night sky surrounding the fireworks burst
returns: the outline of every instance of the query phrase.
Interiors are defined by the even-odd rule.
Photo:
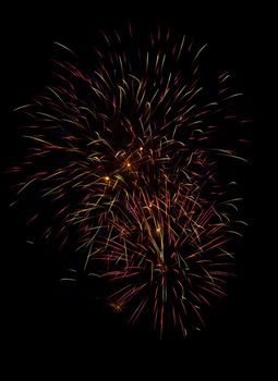
[[[11,370],[31,372],[53,370],[68,372],[77,368],[88,377],[158,378],[169,371],[171,379],[193,379],[203,371],[226,380],[235,370],[251,372],[259,367],[263,355],[264,302],[259,285],[259,237],[255,232],[258,214],[255,186],[256,132],[262,128],[265,83],[270,75],[266,51],[271,27],[266,10],[230,4],[189,7],[186,2],[167,4],[92,3],[57,5],[38,3],[4,12],[7,25],[2,36],[4,123],[1,131],[1,170],[16,162],[21,145],[11,110],[28,102],[50,77],[53,40],[64,42],[96,40],[99,28],[116,28],[128,19],[141,27],[170,26],[176,34],[190,34],[208,42],[216,62],[235,73],[244,93],[247,113],[254,119],[251,133],[253,165],[244,182],[244,212],[250,223],[239,249],[238,278],[229,297],[216,306],[207,328],[188,340],[160,342],[144,329],[132,329],[108,310],[98,308],[86,280],[75,286],[61,286],[59,253],[51,244],[26,243],[23,216],[9,208],[13,200],[8,188],[9,176],[1,176],[1,254],[7,298],[5,352]],[[266,28],[265,25],[268,25]],[[214,62],[214,63],[216,63]],[[261,136],[259,136],[261,139]],[[2,186],[3,185],[3,186]],[[27,206],[26,206],[27,208]],[[256,212],[254,212],[256,210]],[[51,254],[52,253],[52,254]],[[58,258],[57,258],[58,256]],[[5,314],[8,312],[8,314]],[[150,370],[147,369],[149,367]],[[15,369],[16,370],[16,369]],[[38,374],[39,374],[38,373]],[[40,379],[40,377],[38,378]],[[65,379],[65,376],[64,378]],[[83,379],[81,376],[78,379]]]

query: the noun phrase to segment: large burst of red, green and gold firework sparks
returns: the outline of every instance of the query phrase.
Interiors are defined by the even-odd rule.
[[[77,232],[84,270],[108,281],[116,311],[132,323],[152,311],[160,335],[173,324],[185,336],[191,317],[204,324],[202,307],[225,295],[232,272],[229,242],[240,221],[217,163],[241,158],[218,147],[217,134],[230,120],[244,122],[226,111],[239,94],[227,72],[213,94],[203,87],[205,47],[185,37],[173,42],[158,28],[140,48],[131,28],[125,39],[104,37],[87,70],[57,42],[70,60],[55,61],[55,84],[19,108],[32,122],[28,153],[14,169],[25,174],[17,194],[33,189],[46,200],[46,236],[67,244]]]

